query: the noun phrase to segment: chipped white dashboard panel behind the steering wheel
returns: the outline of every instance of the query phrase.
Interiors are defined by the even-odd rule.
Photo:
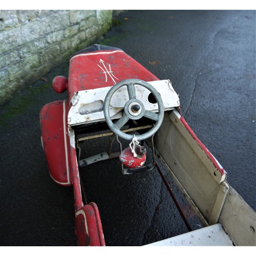
[[[169,80],[158,80],[148,83],[161,95],[165,111],[173,110],[180,105],[179,97]],[[72,126],[104,120],[103,103],[110,88],[111,87],[103,87],[75,93],[71,100],[72,106],[68,114],[68,124]],[[148,96],[151,92],[137,84],[135,85],[135,89],[136,98],[144,104],[145,110],[158,112],[158,104],[148,100]],[[124,108],[128,100],[129,95],[125,86],[114,93],[110,102],[111,118],[121,117],[120,110]]]

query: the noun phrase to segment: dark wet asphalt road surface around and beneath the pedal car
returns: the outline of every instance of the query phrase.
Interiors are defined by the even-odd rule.
[[[97,42],[172,81],[187,123],[255,210],[255,11],[133,10],[115,23]],[[1,246],[76,245],[72,187],[50,178],[40,142],[41,107],[66,97],[51,89],[56,75],[68,76],[68,60],[0,110]],[[90,153],[103,146],[95,142]],[[143,245],[187,231],[157,172],[124,177],[110,160],[81,175],[87,200],[99,207],[106,245]]]

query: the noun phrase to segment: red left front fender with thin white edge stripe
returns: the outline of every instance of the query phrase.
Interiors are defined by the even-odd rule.
[[[67,100],[46,104],[40,112],[42,146],[49,173],[62,186],[73,184],[67,128]]]

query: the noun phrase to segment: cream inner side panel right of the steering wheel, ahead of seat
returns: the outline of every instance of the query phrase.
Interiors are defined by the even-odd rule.
[[[170,175],[179,181],[209,224],[218,218],[228,193],[226,173],[221,174],[212,159],[173,111],[155,135],[155,149]],[[208,153],[208,154],[207,154]]]

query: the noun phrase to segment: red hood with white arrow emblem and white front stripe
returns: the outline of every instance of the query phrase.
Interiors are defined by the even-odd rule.
[[[78,91],[114,86],[124,79],[159,80],[122,50],[81,53],[69,65],[69,101]]]

